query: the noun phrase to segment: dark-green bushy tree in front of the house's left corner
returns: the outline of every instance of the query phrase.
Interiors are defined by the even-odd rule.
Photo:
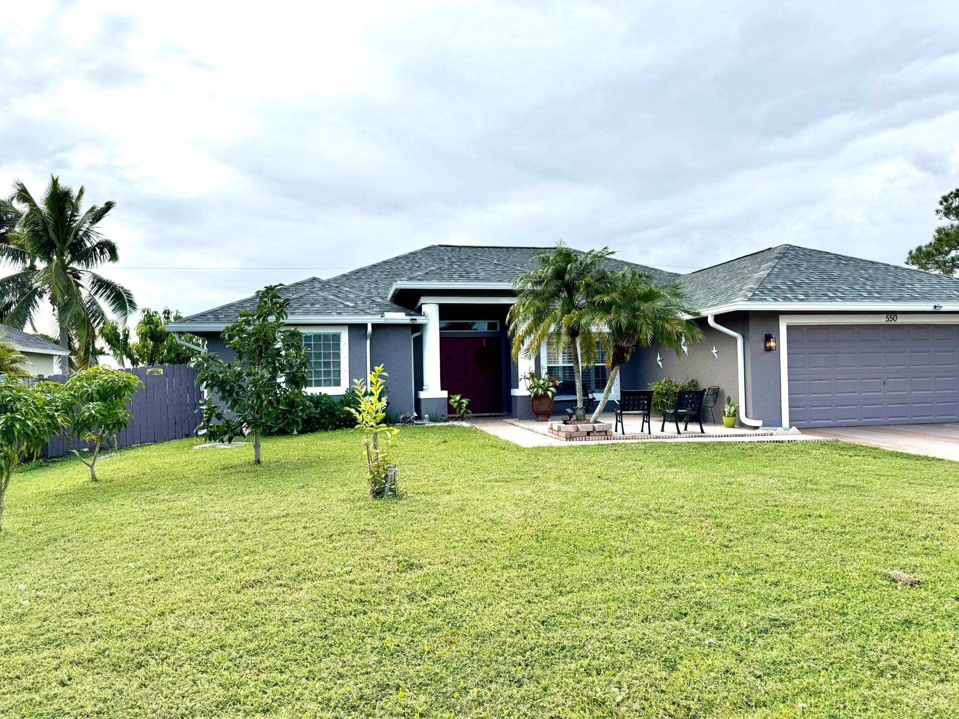
[[[232,442],[253,433],[253,464],[260,464],[260,438],[270,431],[296,431],[290,423],[309,411],[306,350],[299,330],[287,327],[289,299],[269,285],[257,292],[256,310],[240,311],[240,319],[222,331],[236,358],[224,362],[213,354],[195,359],[197,381],[213,395],[203,405],[200,436]],[[226,406],[223,412],[219,402]]]

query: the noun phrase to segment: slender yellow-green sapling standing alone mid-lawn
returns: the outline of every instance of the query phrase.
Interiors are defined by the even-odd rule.
[[[383,365],[374,367],[369,382],[354,380],[360,393],[360,406],[346,409],[357,420],[357,429],[363,429],[363,457],[366,459],[366,483],[374,499],[396,496],[396,465],[392,463],[393,445],[399,429],[384,423],[386,419],[386,383],[388,377]]]

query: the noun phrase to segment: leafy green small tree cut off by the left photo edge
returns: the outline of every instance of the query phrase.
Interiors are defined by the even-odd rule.
[[[24,458],[35,458],[63,424],[61,392],[57,383],[0,378],[0,528],[13,470]]]

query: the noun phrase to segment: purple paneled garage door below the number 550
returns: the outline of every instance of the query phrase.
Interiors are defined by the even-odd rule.
[[[789,424],[959,420],[959,325],[788,327]]]

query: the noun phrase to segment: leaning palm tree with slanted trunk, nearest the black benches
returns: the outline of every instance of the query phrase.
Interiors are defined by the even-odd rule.
[[[595,291],[579,321],[605,328],[599,342],[609,367],[606,387],[590,419],[596,422],[609,400],[620,367],[633,350],[657,342],[681,355],[683,346],[701,339],[703,333],[688,319],[696,311],[686,304],[686,293],[678,282],[655,285],[650,275],[624,267],[604,284],[591,284]]]

